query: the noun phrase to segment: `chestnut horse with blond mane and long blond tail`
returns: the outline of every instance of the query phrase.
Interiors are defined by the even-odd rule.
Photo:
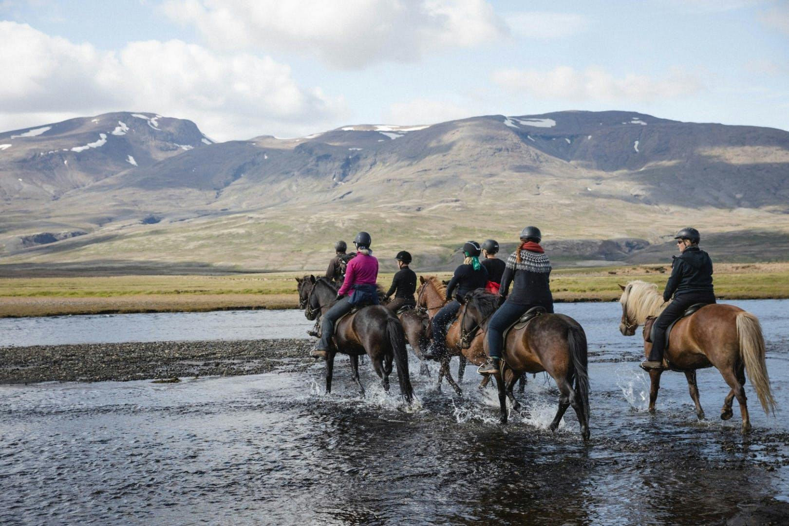
[[[652,316],[660,315],[666,307],[657,285],[642,281],[619,285],[622,289],[622,320],[619,332],[633,336],[639,325],[645,325]],[[646,329],[646,327],[645,327]],[[646,341],[644,353],[649,356],[652,344]],[[745,394],[745,372],[765,413],[775,413],[776,401],[770,391],[770,379],[765,364],[765,338],[761,334],[759,319],[750,312],[734,305],[709,304],[694,314],[680,319],[671,330],[671,340],[665,351],[665,360],[672,371],[682,371],[688,382],[690,397],[696,405],[699,420],[704,418],[704,409],[698,400],[696,371],[705,367],[716,367],[731,387],[720,410],[720,418],[729,420],[734,397],[742,415],[742,433],[750,432],[750,418]],[[657,391],[660,390],[661,369],[649,371],[649,412],[655,412]]]

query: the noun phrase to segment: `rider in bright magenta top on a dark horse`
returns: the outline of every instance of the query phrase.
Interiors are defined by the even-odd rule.
[[[326,357],[326,352],[331,345],[331,337],[335,334],[335,323],[343,315],[346,315],[354,307],[378,304],[378,289],[376,288],[378,259],[372,256],[371,243],[370,234],[366,232],[357,233],[356,239],[353,240],[357,249],[356,256],[348,262],[345,280],[337,291],[337,303],[323,315],[320,341],[309,353],[310,356],[314,358]],[[346,297],[351,289],[353,292]]]

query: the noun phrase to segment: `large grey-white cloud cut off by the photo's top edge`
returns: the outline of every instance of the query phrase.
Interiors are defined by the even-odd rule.
[[[342,69],[411,62],[507,35],[484,0],[167,0],[212,47],[297,52]]]

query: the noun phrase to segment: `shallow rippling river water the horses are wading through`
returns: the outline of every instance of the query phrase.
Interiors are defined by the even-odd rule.
[[[368,363],[368,394],[358,397],[344,357],[330,396],[320,364],[172,385],[0,386],[0,523],[716,524],[780,507],[789,502],[789,301],[737,304],[764,326],[781,407],[765,416],[749,384],[750,438],[736,401],[731,420],[718,417],[728,388],[714,369],[698,375],[707,420],[671,372],[650,416],[640,338],[619,334],[619,305],[559,304],[589,336],[589,444],[571,411],[547,430],[556,392],[544,375],[529,376],[522,412],[500,426],[495,392],[477,390],[473,367],[458,398],[436,392],[435,373],[418,375],[413,356],[409,411],[397,382],[387,396]],[[292,317],[293,336],[303,330],[301,311],[249,319],[268,316]]]

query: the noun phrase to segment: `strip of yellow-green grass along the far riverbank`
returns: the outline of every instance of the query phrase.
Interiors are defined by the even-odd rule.
[[[789,263],[715,268],[719,297],[789,298]],[[552,273],[552,290],[557,301],[611,301],[619,298],[617,284],[642,279],[662,287],[670,271],[667,265],[559,269]],[[2,278],[0,317],[296,308],[294,278],[304,274]],[[388,286],[392,275],[380,274],[379,282]]]

